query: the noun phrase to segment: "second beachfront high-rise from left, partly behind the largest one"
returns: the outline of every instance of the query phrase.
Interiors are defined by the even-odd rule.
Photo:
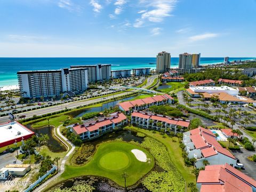
[[[87,68],[88,83],[109,80],[111,77],[111,65],[86,65],[86,66],[70,66],[70,68]]]

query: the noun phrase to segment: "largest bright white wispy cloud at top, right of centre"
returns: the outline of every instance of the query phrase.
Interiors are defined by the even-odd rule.
[[[139,12],[139,14],[142,13],[139,18],[140,20],[137,19],[135,21],[134,27],[138,26],[138,21],[140,23],[145,23],[146,21],[162,22],[165,17],[170,17],[170,13],[177,4],[177,0],[141,0],[140,4],[143,7],[147,7],[148,11],[143,10]],[[140,25],[140,27],[142,27],[142,25]]]

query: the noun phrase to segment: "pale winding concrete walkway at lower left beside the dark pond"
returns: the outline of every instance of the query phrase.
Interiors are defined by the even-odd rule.
[[[66,156],[62,159],[61,161],[61,165],[60,165],[60,169],[59,169],[59,173],[54,175],[54,177],[52,177],[51,179],[47,180],[45,183],[43,183],[40,187],[36,188],[34,191],[43,191],[43,189],[49,185],[50,182],[52,182],[54,179],[58,178],[64,171],[65,171],[65,163],[68,159],[68,157],[73,153],[73,151],[75,150],[75,145],[73,143],[71,143],[66,137],[64,137],[61,132],[60,132],[60,127],[62,125],[57,127],[57,133],[60,135],[61,139],[59,138],[59,136],[56,134],[55,129],[54,129],[54,135],[55,137],[57,137],[62,143],[64,143],[64,145],[66,145],[68,147],[68,153],[66,154]],[[68,146],[65,142],[62,141],[65,140],[66,142],[68,142],[68,144],[71,146]]]

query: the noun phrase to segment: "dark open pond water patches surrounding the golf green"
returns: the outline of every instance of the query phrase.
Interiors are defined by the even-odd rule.
[[[91,144],[91,145],[98,145],[101,142],[104,141],[111,141],[111,140],[115,140],[115,139],[120,139],[122,138],[123,141],[137,141],[139,143],[141,143],[144,139],[141,137],[137,136],[137,132],[131,131],[131,130],[118,130],[112,133],[107,133],[105,135],[102,135],[102,137],[91,140],[91,141],[87,141],[86,143]],[[161,169],[161,167],[159,167],[158,165],[155,165],[155,167],[153,168],[153,171],[157,171],[157,172],[162,172],[164,171],[163,169]],[[96,176],[92,176],[92,175],[86,175],[83,177],[77,177],[77,178],[73,178],[73,179],[68,179],[65,181],[60,182],[58,185],[55,185],[53,188],[60,188],[60,189],[64,189],[64,188],[70,188],[73,186],[76,186],[78,184],[81,183],[88,183],[91,186],[93,186],[95,188],[95,190],[93,191],[97,191],[97,192],[107,192],[107,191],[113,191],[113,192],[147,192],[148,190],[142,186],[141,184],[141,180],[138,181],[135,185],[129,187],[127,190],[125,190],[123,187],[118,186],[115,182],[106,179],[106,178],[102,178],[102,177],[96,177]],[[53,189],[52,188],[52,189]],[[52,190],[50,189],[50,190]]]

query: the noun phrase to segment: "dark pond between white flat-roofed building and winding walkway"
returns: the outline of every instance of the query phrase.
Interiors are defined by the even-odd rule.
[[[31,131],[33,131],[35,134],[40,135],[42,134],[47,134],[49,135],[49,141],[47,141],[48,143],[48,147],[49,149],[54,152],[54,153],[59,153],[59,152],[63,152],[66,151],[67,149],[65,148],[65,146],[63,146],[63,144],[57,140],[57,138],[55,139],[54,135],[54,126],[43,126],[40,128],[33,128],[31,126],[31,124],[26,125],[26,127],[28,127],[28,129],[30,129]]]

